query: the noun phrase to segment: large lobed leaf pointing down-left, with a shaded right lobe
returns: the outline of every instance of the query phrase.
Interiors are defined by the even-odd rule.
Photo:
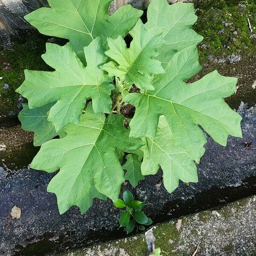
[[[106,119],[104,113],[94,113],[90,103],[79,126],[68,125],[66,137],[41,146],[31,168],[46,172],[60,169],[47,188],[57,195],[60,213],[72,205],[86,208],[84,201],[94,186],[101,194],[117,200],[124,173],[116,148],[132,152],[143,145],[140,139],[129,139],[123,119],[113,114]]]

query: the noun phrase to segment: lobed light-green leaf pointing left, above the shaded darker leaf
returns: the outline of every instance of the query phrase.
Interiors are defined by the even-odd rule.
[[[79,124],[87,98],[92,98],[95,112],[111,113],[111,79],[99,66],[105,63],[102,43],[96,38],[84,48],[87,67],[84,67],[71,45],[61,47],[47,44],[44,61],[54,72],[25,70],[26,79],[17,92],[29,101],[29,108],[36,108],[57,101],[49,111],[48,120],[56,131],[69,123]]]

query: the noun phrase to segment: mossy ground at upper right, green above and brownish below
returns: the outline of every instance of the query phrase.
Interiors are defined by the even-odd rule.
[[[245,7],[239,7],[239,3]],[[238,90],[235,95],[226,99],[227,103],[236,109],[241,101],[253,106],[256,104],[256,90],[252,88],[256,81],[256,39],[250,38],[247,17],[252,28],[256,27],[256,16],[253,15],[256,13],[255,0],[196,0],[195,9],[198,21],[194,29],[204,37],[202,44],[209,46],[207,49],[199,47],[203,70],[195,78],[199,79],[215,69],[221,75],[236,76],[239,79]],[[234,34],[235,31],[237,35]],[[256,33],[255,29],[253,33]],[[227,57],[233,53],[240,55],[241,60],[230,64]],[[223,58],[225,63],[211,61],[209,55]]]

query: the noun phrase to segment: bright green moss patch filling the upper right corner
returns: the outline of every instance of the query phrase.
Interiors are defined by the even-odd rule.
[[[201,60],[206,61],[209,54],[223,55],[233,52],[255,53],[255,39],[250,38],[247,17],[250,18],[252,27],[256,26],[256,2],[246,1],[246,7],[239,7],[240,1],[228,0],[197,0],[198,21],[194,26],[195,31],[204,37],[204,44],[210,46],[205,51],[201,50]],[[234,31],[237,35],[234,35]],[[235,38],[236,40],[233,40]]]

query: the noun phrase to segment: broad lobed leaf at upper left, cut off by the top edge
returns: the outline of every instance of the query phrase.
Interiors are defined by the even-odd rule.
[[[103,47],[107,38],[125,37],[143,14],[131,5],[108,15],[112,0],[48,0],[51,8],[40,8],[24,18],[44,35],[70,40],[84,62],[84,47],[100,36]],[[85,62],[84,62],[85,63]]]

